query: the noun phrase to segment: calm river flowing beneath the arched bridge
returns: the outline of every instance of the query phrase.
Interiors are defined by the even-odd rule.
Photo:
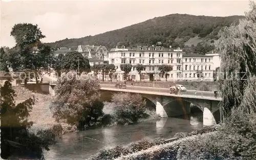
[[[143,139],[172,138],[177,132],[201,128],[202,112],[181,117],[162,118],[127,126],[111,126],[63,135],[46,151],[45,159],[86,159],[102,147],[127,145]]]

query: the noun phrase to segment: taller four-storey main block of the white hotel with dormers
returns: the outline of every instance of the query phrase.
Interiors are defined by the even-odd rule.
[[[117,43],[116,48],[112,48],[109,52],[109,64],[116,65],[116,73],[114,78],[118,81],[124,81],[123,71],[120,66],[122,64],[131,64],[132,71],[128,74],[128,79],[139,81],[140,75],[136,71],[135,66],[142,64],[145,70],[142,71],[142,81],[159,81],[165,79],[160,73],[158,67],[160,65],[172,65],[173,70],[169,72],[168,81],[177,81],[182,76],[182,50],[179,47],[165,48],[162,46],[136,46],[126,47],[124,43]]]

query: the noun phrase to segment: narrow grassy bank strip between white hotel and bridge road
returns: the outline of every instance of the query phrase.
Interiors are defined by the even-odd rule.
[[[121,82],[124,83],[124,82]],[[116,82],[101,82],[101,84],[115,85]],[[127,85],[131,85],[131,82],[127,82]],[[183,82],[134,82],[134,86],[139,87],[156,87],[156,88],[169,88],[172,85],[183,85],[187,90],[203,90],[203,91],[215,91],[216,82],[200,82],[200,81],[183,81]]]

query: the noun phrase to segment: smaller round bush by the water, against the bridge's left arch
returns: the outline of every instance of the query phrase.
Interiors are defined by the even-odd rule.
[[[112,97],[114,121],[117,124],[133,124],[143,118],[146,101],[139,94],[119,93]]]

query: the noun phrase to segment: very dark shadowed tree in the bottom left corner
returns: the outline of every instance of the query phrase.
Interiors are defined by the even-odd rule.
[[[39,136],[36,136],[28,131],[33,124],[28,121],[28,117],[34,99],[29,98],[16,105],[14,101],[16,94],[10,81],[5,82],[0,93],[1,157],[7,159],[14,154],[21,156],[20,154],[27,153],[27,156],[34,155],[33,159],[41,159],[43,157],[42,149],[49,150],[49,145],[54,142],[54,137],[45,139],[46,137],[41,135],[42,132],[38,132]]]

